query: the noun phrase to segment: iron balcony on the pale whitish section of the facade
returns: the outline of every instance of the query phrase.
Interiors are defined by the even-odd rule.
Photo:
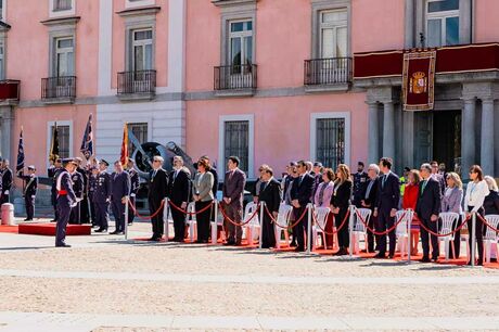
[[[118,73],[117,94],[123,101],[154,99],[156,94],[156,71]]]

